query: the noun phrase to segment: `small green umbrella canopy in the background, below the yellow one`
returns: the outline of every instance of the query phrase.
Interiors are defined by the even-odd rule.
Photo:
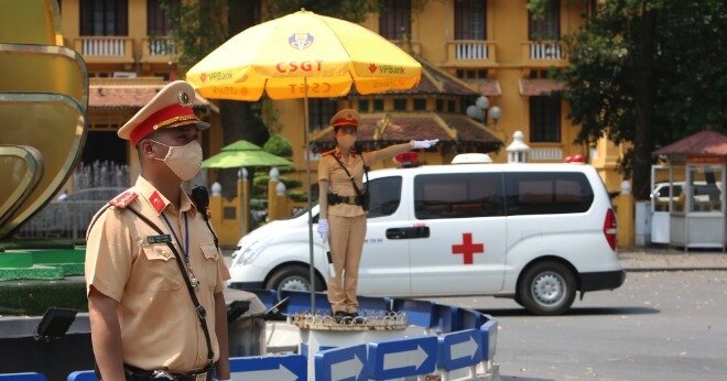
[[[293,163],[246,140],[225,145],[221,152],[203,161],[203,168],[236,168],[241,166],[283,166],[292,167]]]

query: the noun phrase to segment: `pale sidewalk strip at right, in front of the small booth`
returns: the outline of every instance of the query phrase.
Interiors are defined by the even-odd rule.
[[[716,250],[633,247],[619,249],[618,258],[627,272],[727,270],[727,253]]]

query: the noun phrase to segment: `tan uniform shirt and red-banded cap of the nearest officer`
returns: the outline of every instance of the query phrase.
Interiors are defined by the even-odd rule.
[[[173,81],[127,122],[118,134],[133,145],[161,128],[197,124],[194,90]],[[86,291],[93,286],[118,302],[122,361],[142,370],[189,373],[209,364],[207,340],[171,242],[184,262],[199,304],[206,309],[214,361],[215,294],[230,275],[215,237],[191,198],[182,192],[178,210],[147,178],[139,176],[126,193],[94,218],[87,233]],[[132,210],[148,218],[160,235]],[[186,255],[185,255],[186,253]],[[195,281],[196,280],[196,281]]]

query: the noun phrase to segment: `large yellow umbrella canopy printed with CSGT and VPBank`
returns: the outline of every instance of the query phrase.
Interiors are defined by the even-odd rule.
[[[348,21],[300,11],[237,34],[187,72],[207,98],[332,98],[414,87],[422,66]]]

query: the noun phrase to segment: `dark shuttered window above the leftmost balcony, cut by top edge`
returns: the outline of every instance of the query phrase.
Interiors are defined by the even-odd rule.
[[[80,0],[80,35],[128,35],[127,0]]]

